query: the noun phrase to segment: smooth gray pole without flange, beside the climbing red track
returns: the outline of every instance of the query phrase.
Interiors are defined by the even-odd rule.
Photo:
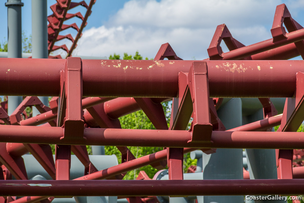
[[[32,58],[48,58],[47,48],[47,0],[32,0]],[[38,97],[48,106],[47,96]],[[34,107],[33,116],[40,114]]]

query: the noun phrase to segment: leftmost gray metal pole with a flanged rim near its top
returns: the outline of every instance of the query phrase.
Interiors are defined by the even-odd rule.
[[[21,58],[22,55],[22,27],[21,27],[21,7],[24,4],[21,0],[7,0],[7,28],[8,28],[8,58]],[[8,114],[19,106],[22,101],[21,96],[8,97]]]

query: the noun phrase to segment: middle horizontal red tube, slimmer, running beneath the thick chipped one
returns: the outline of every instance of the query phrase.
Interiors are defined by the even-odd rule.
[[[85,128],[84,140],[60,139],[60,127],[0,126],[0,142],[145,147],[303,149],[304,132],[212,131],[210,143],[192,143],[188,131]]]

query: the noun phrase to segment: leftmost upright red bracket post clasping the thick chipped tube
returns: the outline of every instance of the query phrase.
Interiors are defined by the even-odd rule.
[[[60,78],[60,106],[57,127],[64,128],[65,140],[82,140],[84,121],[82,113],[82,62],[81,58],[68,57]],[[71,145],[56,145],[56,180],[69,180]]]

